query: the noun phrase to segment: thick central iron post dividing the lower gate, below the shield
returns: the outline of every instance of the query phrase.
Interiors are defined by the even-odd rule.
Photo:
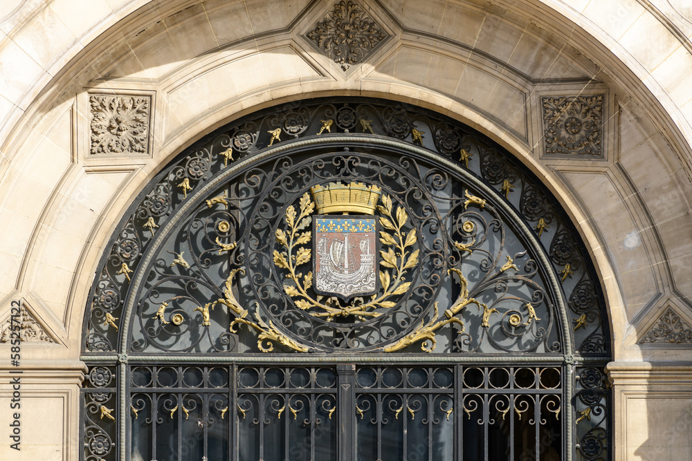
[[[356,365],[338,364],[336,366],[338,386],[337,411],[339,429],[337,439],[338,461],[356,460]]]

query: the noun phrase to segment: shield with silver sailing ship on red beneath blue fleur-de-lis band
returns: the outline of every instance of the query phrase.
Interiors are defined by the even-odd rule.
[[[377,292],[377,222],[372,216],[315,216],[314,289],[349,299]]]

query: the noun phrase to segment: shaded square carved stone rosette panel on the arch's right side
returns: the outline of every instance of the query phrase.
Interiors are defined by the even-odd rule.
[[[603,156],[603,95],[542,97],[547,155]]]

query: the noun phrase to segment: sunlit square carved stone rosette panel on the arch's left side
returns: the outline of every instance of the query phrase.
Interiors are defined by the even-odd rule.
[[[91,153],[148,153],[152,98],[89,95]]]

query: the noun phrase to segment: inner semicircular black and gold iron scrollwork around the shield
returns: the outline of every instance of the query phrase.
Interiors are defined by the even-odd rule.
[[[232,352],[246,341],[243,326],[262,352],[432,352],[439,341],[448,352],[561,350],[554,294],[534,250],[462,178],[414,157],[336,152],[255,164],[231,184],[193,205],[158,248],[136,294],[134,352]],[[370,225],[364,216],[316,214],[311,190],[319,198],[320,188],[336,194],[338,186],[355,197],[336,203],[348,209],[363,198],[356,185],[378,189]],[[341,226],[353,223],[352,241],[372,226],[375,238],[360,241],[369,255],[340,241],[362,268],[363,258],[379,259],[370,288],[316,290],[326,272],[311,270],[313,220],[343,236]],[[334,258],[334,242],[320,257]]]

